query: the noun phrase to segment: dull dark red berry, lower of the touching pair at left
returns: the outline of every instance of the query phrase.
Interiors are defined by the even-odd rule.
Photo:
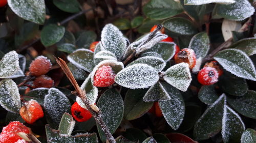
[[[35,78],[33,84],[35,88],[52,88],[54,85],[54,81],[51,77],[41,75]]]

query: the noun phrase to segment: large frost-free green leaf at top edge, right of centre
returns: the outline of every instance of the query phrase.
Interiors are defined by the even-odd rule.
[[[182,6],[174,0],[151,0],[143,7],[143,13],[151,19],[166,19],[183,12]]]

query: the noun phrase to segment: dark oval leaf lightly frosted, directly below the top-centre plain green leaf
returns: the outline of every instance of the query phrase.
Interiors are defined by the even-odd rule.
[[[197,33],[197,29],[193,23],[181,17],[170,18],[163,22],[163,26],[167,30],[180,35],[193,35]]]

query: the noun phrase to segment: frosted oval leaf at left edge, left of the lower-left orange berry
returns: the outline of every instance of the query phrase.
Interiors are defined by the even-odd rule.
[[[10,112],[19,112],[21,105],[18,87],[11,79],[0,81],[0,104]]]

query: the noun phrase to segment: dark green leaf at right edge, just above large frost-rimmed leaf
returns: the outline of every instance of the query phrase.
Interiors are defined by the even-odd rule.
[[[244,51],[248,56],[253,55],[256,53],[256,38],[245,38],[242,39],[229,48],[240,49]]]

